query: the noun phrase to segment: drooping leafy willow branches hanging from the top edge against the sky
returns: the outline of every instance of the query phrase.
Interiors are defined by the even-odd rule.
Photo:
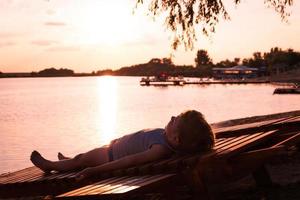
[[[145,0],[136,0],[137,5]],[[229,20],[230,16],[223,4],[224,0],[149,0],[149,12],[153,16],[166,14],[165,24],[174,33],[172,47],[177,49],[183,44],[186,49],[193,49],[196,40],[195,26],[201,25],[202,32],[209,35],[215,32],[215,27],[221,18]],[[241,0],[233,0],[239,4]],[[287,7],[293,0],[264,0],[268,7],[279,13],[283,21],[290,15]]]

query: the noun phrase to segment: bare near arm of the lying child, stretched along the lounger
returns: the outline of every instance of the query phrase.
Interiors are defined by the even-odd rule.
[[[167,155],[170,155],[171,151],[162,145],[155,144],[149,150],[129,155],[118,160],[105,163],[96,167],[89,167],[76,175],[77,180],[82,180],[86,177],[96,175],[101,172],[123,169],[132,167],[135,165],[144,164],[147,162],[161,159]]]

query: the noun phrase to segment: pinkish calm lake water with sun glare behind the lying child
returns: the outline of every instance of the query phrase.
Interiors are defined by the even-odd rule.
[[[218,122],[300,109],[299,95],[275,86],[142,87],[137,77],[0,79],[0,174],[31,166],[32,150],[49,159],[107,144],[142,128],[164,127],[197,109]]]

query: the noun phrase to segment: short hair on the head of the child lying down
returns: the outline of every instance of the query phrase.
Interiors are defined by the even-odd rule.
[[[180,117],[179,150],[186,153],[210,151],[215,144],[215,135],[202,113],[188,110]]]

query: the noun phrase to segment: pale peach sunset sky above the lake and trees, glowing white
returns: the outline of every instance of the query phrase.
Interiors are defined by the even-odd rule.
[[[148,2],[145,0],[145,2]],[[264,0],[226,1],[230,21],[210,38],[198,34],[193,51],[173,52],[171,33],[135,0],[1,0],[0,71],[31,72],[48,67],[75,72],[118,69],[174,54],[175,64],[194,64],[197,49],[214,62],[250,57],[271,47],[300,51],[300,2],[281,22]],[[200,28],[199,28],[200,29]]]

